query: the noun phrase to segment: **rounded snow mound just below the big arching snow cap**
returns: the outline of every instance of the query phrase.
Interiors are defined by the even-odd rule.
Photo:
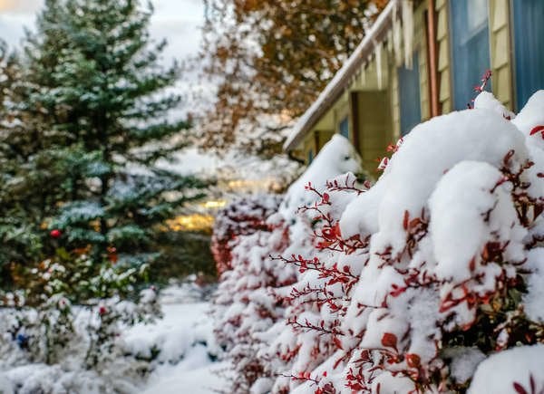
[[[485,275],[476,260],[493,237],[509,243],[507,259],[523,262],[522,240],[527,231],[518,225],[509,190],[500,186],[504,181],[504,175],[488,163],[461,161],[436,185],[429,207],[439,279],[461,283],[480,271]],[[482,290],[490,291],[494,283],[490,284],[491,288]]]

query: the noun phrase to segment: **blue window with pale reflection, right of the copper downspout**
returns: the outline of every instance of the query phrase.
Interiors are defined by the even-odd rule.
[[[463,110],[490,68],[488,0],[450,0],[450,22],[453,106]]]

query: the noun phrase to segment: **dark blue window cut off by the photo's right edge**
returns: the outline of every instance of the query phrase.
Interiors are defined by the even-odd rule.
[[[516,103],[520,110],[532,93],[544,88],[544,1],[514,0],[512,6]]]

